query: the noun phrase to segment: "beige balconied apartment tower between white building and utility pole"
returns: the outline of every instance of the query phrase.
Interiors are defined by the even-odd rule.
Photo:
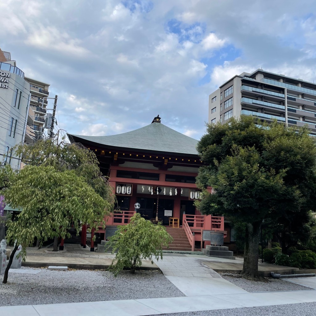
[[[29,77],[25,77],[25,80],[30,84],[30,112],[33,115],[34,121],[30,128],[33,129],[35,136],[43,131],[46,115],[47,97],[49,95],[49,84],[35,80]],[[33,142],[26,137],[26,143]]]

